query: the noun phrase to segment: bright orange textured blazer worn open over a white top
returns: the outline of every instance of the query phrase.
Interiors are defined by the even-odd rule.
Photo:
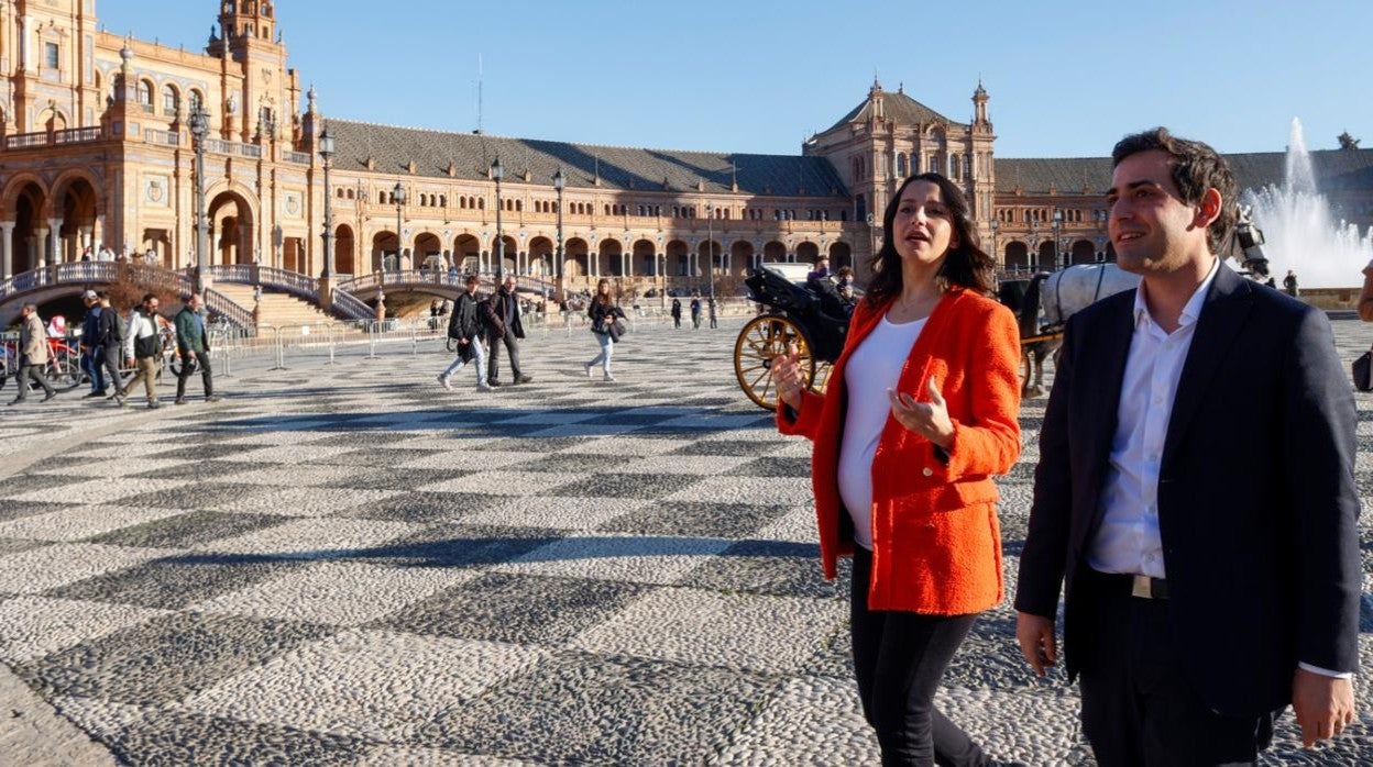
[[[795,420],[778,403],[777,428],[816,446],[811,486],[820,523],[825,578],[838,574],[842,539],[839,447],[849,392],[844,369],[890,303],[858,305],[843,354],[825,394],[805,392]],[[1020,332],[1009,309],[954,288],[935,305],[902,368],[898,390],[927,401],[927,381],[939,383],[954,425],[947,461],[935,446],[891,416],[872,464],[870,609],[967,615],[1004,597],[997,487],[991,477],[1011,471],[1020,456]]]

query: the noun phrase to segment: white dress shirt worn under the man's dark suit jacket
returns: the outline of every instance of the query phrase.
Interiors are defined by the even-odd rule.
[[[1145,302],[1145,284],[1134,294],[1134,333],[1126,357],[1120,401],[1116,403],[1116,432],[1101,488],[1101,527],[1087,549],[1087,564],[1100,572],[1123,572],[1167,578],[1163,568],[1163,541],[1159,535],[1159,469],[1163,440],[1173,417],[1182,365],[1186,362],[1205,295],[1221,269],[1211,263],[1196,292],[1182,307],[1178,329],[1166,332],[1153,321]],[[1307,671],[1348,678],[1306,663]]]

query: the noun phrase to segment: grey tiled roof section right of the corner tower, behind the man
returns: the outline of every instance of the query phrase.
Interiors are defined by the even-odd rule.
[[[1287,173],[1285,152],[1225,155],[1241,189],[1281,184]],[[1321,191],[1373,189],[1373,150],[1322,150],[1311,152]],[[997,158],[997,192],[1045,193],[1050,187],[1063,192],[1100,195],[1111,187],[1111,158],[1002,159]]]

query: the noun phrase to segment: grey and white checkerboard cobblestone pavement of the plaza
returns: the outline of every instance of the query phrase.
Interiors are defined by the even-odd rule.
[[[1336,327],[1355,357],[1368,332]],[[555,333],[524,343],[533,384],[490,394],[439,388],[431,350],[243,375],[214,409],[5,413],[21,442],[54,413],[128,424],[0,482],[0,660],[130,764],[875,764],[810,447],[744,399],[733,338],[634,333],[614,384],[582,375],[589,335]],[[1008,585],[1042,416],[1000,482]],[[942,707],[1001,759],[1090,764],[1008,605]],[[1288,716],[1267,762],[1368,763],[1359,701],[1319,752]]]

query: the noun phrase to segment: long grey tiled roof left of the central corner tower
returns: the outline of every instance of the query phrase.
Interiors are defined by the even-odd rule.
[[[416,176],[448,178],[452,163],[454,178],[485,180],[498,155],[505,181],[514,184],[526,182],[529,170],[527,182],[552,187],[562,167],[568,188],[595,187],[599,172],[600,188],[621,191],[695,192],[703,182],[704,191],[719,193],[737,178],[740,193],[831,199],[849,193],[824,158],[597,147],[342,119],[330,119],[328,130],[339,170],[364,170],[372,158],[382,173],[405,174],[413,162]]]

